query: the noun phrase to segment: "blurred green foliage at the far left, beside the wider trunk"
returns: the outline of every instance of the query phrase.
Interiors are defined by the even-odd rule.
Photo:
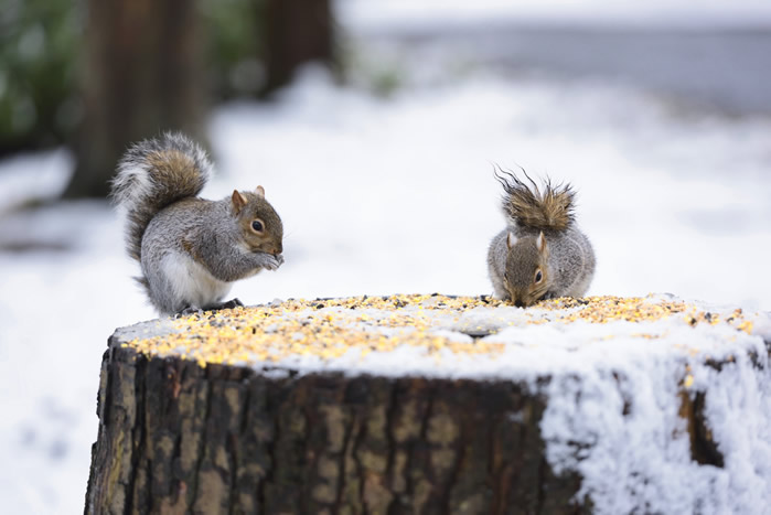
[[[63,141],[75,94],[83,17],[68,0],[4,0],[0,10],[0,154]]]

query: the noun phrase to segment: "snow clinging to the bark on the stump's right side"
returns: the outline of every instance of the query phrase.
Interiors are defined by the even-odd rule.
[[[674,332],[667,339],[689,340]],[[704,354],[676,360],[638,351],[625,353],[625,363],[585,366],[549,384],[540,427],[553,468],[579,471],[579,497],[590,495],[597,513],[767,513],[771,373],[762,342],[756,350],[760,367],[731,351],[736,362],[720,373],[704,364]],[[692,388],[705,393],[707,426],[724,468],[690,458],[678,415],[683,361],[695,377]]]

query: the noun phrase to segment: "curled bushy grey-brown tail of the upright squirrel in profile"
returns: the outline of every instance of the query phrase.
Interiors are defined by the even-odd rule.
[[[132,146],[118,163],[113,201],[126,208],[126,244],[139,260],[144,229],[156,214],[196,196],[212,174],[206,152],[180,132],[165,132]]]

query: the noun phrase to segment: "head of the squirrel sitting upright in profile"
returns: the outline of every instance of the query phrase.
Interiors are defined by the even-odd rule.
[[[233,191],[233,214],[238,221],[244,242],[253,253],[278,256],[283,251],[283,225],[281,218],[265,200],[265,189],[254,192]]]

